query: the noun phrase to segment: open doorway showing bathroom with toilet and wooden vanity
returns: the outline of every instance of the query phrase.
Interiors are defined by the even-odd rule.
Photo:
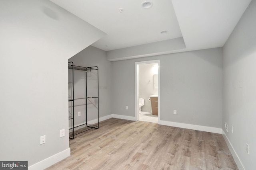
[[[136,121],[160,122],[160,60],[135,63]],[[144,103],[142,104],[142,101]],[[142,105],[141,105],[142,104]]]

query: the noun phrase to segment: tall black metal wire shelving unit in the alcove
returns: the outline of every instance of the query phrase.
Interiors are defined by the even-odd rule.
[[[82,67],[82,66],[76,66],[73,64],[73,62],[68,62],[68,69],[72,71],[72,82],[68,82],[71,86],[72,90],[70,92],[72,93],[69,96],[68,101],[72,102],[71,104],[71,111],[69,111],[69,118],[71,122],[71,127],[69,128],[69,138],[74,139],[75,135],[78,135],[80,133],[83,133],[85,131],[88,131],[90,129],[98,129],[99,128],[99,77],[98,77],[98,66],[93,66],[93,67]],[[74,70],[81,70],[85,72],[85,85],[86,85],[86,97],[85,98],[74,98]],[[96,72],[96,73],[95,73]],[[94,74],[97,77],[97,94],[96,96],[88,96],[88,73]],[[74,103],[75,100],[80,100],[80,99],[86,99],[86,122],[82,125],[74,125]],[[94,124],[89,124],[88,123],[88,104],[92,104],[91,99],[97,99],[98,102],[97,104],[93,104],[93,106],[97,109],[97,123]],[[71,113],[72,112],[72,113]]]

